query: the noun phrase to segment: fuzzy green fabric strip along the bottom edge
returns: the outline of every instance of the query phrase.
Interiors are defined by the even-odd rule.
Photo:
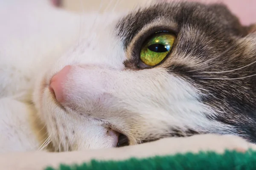
[[[61,164],[58,169],[47,167],[45,170],[256,170],[256,151],[186,153],[124,161],[93,160],[81,165]]]

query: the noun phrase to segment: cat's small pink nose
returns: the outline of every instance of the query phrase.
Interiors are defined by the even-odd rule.
[[[55,76],[52,77],[49,89],[55,94],[55,97],[58,102],[64,101],[63,96],[63,85],[65,80],[67,79],[67,74],[70,72],[71,65],[67,65],[62,68]]]

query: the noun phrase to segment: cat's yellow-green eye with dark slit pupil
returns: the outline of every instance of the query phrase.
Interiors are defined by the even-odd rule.
[[[148,66],[161,62],[175,41],[175,35],[170,33],[158,33],[144,43],[140,51],[140,60]]]

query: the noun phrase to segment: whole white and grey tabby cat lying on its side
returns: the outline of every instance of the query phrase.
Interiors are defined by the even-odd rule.
[[[255,26],[226,6],[151,2],[81,16],[12,0],[0,11],[1,153],[179,139],[180,150],[190,140],[197,150],[254,147]]]

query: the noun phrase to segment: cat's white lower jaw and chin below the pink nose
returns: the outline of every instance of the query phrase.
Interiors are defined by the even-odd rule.
[[[116,147],[119,133],[99,120],[72,114],[54,102],[49,91],[43,96],[42,116],[55,151]]]

